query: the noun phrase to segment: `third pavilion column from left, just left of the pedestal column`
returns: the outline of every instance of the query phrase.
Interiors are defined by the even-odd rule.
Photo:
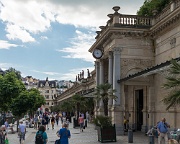
[[[109,52],[109,67],[108,67],[108,83],[109,84],[113,84],[113,55],[112,55],[112,51]],[[112,116],[112,104],[113,104],[113,100],[112,98],[109,98],[108,101],[108,115]]]

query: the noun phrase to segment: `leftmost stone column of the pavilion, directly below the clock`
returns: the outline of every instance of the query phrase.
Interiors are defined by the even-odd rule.
[[[99,85],[100,80],[100,64],[98,61],[95,61],[95,69],[96,69],[96,86]],[[94,115],[98,115],[98,109],[99,109],[99,103],[96,101],[95,102],[95,107],[94,107]]]

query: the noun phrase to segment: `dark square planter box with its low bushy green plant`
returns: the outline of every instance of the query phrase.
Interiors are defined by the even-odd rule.
[[[112,125],[111,117],[98,115],[93,122],[97,129],[99,142],[116,142],[116,128],[115,124]]]

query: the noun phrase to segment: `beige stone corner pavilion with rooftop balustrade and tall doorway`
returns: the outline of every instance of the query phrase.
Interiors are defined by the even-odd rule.
[[[158,68],[180,57],[180,0],[172,1],[154,17],[123,15],[119,9],[113,7],[115,12],[108,14],[107,25],[100,26],[96,42],[89,49],[91,53],[95,49],[103,51],[95,62],[96,84],[109,82],[116,89],[118,98],[109,102],[109,113],[117,134],[123,134],[124,116],[133,129],[143,132],[162,117],[172,129],[180,128],[180,108],[166,111],[161,101],[167,95],[162,85],[168,66]]]

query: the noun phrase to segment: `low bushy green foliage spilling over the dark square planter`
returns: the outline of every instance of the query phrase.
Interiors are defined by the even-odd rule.
[[[96,118],[93,119],[93,123],[102,128],[112,126],[111,117],[103,115],[97,115]]]

